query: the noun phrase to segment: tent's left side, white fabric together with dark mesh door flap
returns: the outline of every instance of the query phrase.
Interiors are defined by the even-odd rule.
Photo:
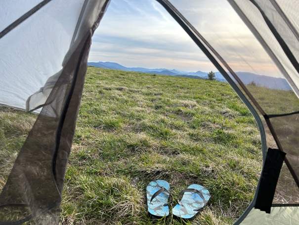
[[[109,0],[6,1],[0,105],[43,107],[0,193],[0,224],[58,224],[91,36]],[[14,13],[16,12],[16,13]],[[43,214],[45,213],[45,214]]]

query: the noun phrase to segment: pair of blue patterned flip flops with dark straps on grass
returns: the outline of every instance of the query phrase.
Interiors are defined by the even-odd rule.
[[[151,181],[146,187],[148,213],[154,217],[169,216],[168,198],[170,185],[165,180]],[[179,201],[179,197],[182,199]],[[177,218],[192,220],[210,199],[210,192],[199,184],[191,184],[178,194],[178,204],[172,214]]]

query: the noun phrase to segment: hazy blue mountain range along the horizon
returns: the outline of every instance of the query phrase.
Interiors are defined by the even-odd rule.
[[[187,72],[182,70],[166,69],[166,68],[148,69],[143,67],[126,67],[116,62],[101,62],[101,61],[88,62],[88,65],[94,67],[107,68],[107,69],[118,69],[118,70],[143,72],[143,73],[155,73],[161,75],[181,76],[181,77],[189,77],[195,79],[208,78],[208,72],[202,72],[202,71]],[[289,83],[284,78],[259,75],[250,72],[236,72],[236,74],[239,76],[239,78],[242,80],[244,84],[250,84],[254,81],[256,85],[267,87],[270,89],[292,90]],[[228,75],[232,77],[230,73],[228,73]],[[227,82],[220,72],[215,72],[215,76],[216,76],[215,77],[216,80],[221,82]],[[234,80],[233,77],[232,79]]]

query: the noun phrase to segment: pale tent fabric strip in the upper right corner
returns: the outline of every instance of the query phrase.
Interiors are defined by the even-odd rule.
[[[278,41],[275,39],[256,6],[250,1],[228,1],[232,4],[236,12],[239,13],[240,17],[243,18],[244,22],[252,30],[253,34],[256,36],[256,39],[261,42],[269,56],[276,63],[284,77],[292,86],[294,92],[297,94],[297,96],[299,96],[298,71],[296,71],[292,63],[288,60],[286,54],[282,50]],[[291,51],[298,60],[298,44],[296,44],[298,43],[299,38],[297,37],[299,31],[298,13],[295,13],[294,11],[294,9],[298,8],[298,1],[277,1],[277,4],[274,4],[275,6],[270,1],[258,2],[261,4],[261,7],[267,8],[265,12],[268,12],[267,15],[271,20],[275,20],[276,23],[279,22],[279,32],[285,35],[284,38],[288,40],[288,46],[291,48]],[[289,17],[288,20],[290,20],[290,23],[287,23],[287,21],[283,18],[284,16],[279,14],[280,11],[276,10],[277,7],[281,7],[280,10],[282,11],[287,11]]]

